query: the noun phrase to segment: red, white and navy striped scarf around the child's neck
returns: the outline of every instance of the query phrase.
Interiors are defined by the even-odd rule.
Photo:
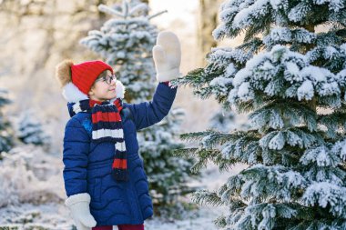
[[[120,116],[120,111],[123,108],[121,99],[117,98],[114,102],[86,99],[77,102],[72,107],[75,113],[91,112],[93,142],[115,143],[116,151],[112,164],[112,174],[117,181],[127,181],[127,149]]]

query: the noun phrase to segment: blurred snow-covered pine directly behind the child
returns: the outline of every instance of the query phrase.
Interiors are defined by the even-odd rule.
[[[123,1],[122,5],[100,5],[100,11],[115,16],[100,29],[88,33],[81,44],[95,51],[115,66],[118,79],[126,86],[128,103],[139,103],[151,98],[157,86],[152,48],[158,29],[150,23],[156,15],[146,15],[148,5],[138,0]],[[187,186],[191,175],[191,160],[172,155],[172,149],[183,145],[178,140],[183,111],[172,109],[158,125],[137,133],[139,154],[148,175],[150,194],[158,215],[181,215],[177,208],[181,195],[192,191]],[[175,211],[172,212],[172,209]]]

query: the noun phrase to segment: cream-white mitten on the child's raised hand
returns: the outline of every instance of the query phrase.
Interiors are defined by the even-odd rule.
[[[153,57],[158,82],[167,82],[178,78],[181,49],[177,35],[172,32],[160,32],[157,45],[153,47]]]

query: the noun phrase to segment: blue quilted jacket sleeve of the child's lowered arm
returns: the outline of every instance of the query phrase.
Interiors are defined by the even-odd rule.
[[[86,193],[86,166],[90,137],[76,118],[71,118],[64,136],[64,181],[66,195]]]

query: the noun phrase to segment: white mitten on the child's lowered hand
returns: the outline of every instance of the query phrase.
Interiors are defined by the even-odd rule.
[[[91,230],[97,225],[94,217],[90,214],[90,195],[76,194],[70,195],[65,205],[70,209],[71,216],[75,221],[77,230]]]

